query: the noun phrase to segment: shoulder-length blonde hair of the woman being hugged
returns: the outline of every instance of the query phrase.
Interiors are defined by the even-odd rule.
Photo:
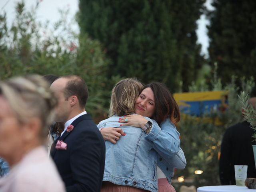
[[[142,89],[143,84],[136,78],[120,80],[112,89],[109,116],[134,113],[134,104]]]

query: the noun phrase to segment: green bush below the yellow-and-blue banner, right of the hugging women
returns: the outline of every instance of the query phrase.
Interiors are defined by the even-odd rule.
[[[252,92],[254,88],[254,79],[240,79],[242,87],[237,87],[236,77],[232,77],[232,82],[222,88],[221,80],[213,81],[212,87],[219,87],[220,90],[228,91],[228,108],[225,112],[212,112],[204,114],[201,117],[182,116],[178,124],[178,130],[181,133],[181,147],[184,150],[187,166],[184,170],[176,170],[175,178],[184,176],[185,185],[209,186],[220,185],[219,180],[219,163],[220,145],[225,130],[243,120],[241,113],[240,101],[238,98],[239,90]],[[195,88],[195,87],[194,87]],[[217,89],[214,89],[217,90]],[[194,91],[197,91],[194,89]],[[206,119],[207,118],[207,119]],[[216,124],[216,121],[220,122]],[[194,174],[195,170],[203,170],[200,175]],[[189,178],[192,182],[187,183]],[[176,190],[181,185],[174,183]]]

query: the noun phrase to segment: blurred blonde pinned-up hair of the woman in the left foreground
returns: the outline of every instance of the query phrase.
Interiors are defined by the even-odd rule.
[[[20,123],[29,122],[32,117],[38,117],[41,120],[39,139],[44,142],[58,102],[42,76],[28,75],[2,81],[0,96],[7,100]]]

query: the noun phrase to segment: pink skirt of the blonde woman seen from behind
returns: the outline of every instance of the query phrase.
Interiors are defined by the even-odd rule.
[[[148,192],[132,186],[116,185],[112,182],[103,181],[100,192]]]

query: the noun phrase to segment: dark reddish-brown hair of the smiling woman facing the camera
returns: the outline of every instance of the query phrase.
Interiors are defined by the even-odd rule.
[[[161,122],[169,117],[171,122],[176,125],[180,121],[180,110],[168,88],[159,82],[147,84],[143,90],[146,88],[152,89],[156,105],[156,110],[150,118],[156,120],[160,125]]]

